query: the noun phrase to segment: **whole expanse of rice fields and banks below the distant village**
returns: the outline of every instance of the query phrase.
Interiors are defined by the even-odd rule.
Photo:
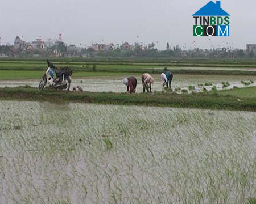
[[[37,90],[45,59],[0,60],[0,203],[256,203],[255,60],[52,61],[71,91]]]

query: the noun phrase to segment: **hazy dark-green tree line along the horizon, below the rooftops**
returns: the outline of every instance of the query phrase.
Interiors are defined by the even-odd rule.
[[[12,45],[0,45],[0,57],[56,57],[53,54],[53,50],[59,52],[58,57],[86,57],[86,58],[226,58],[226,59],[237,59],[237,58],[250,58],[254,59],[256,53],[251,50],[250,52],[243,49],[228,48],[221,49],[200,49],[194,48],[189,50],[181,49],[179,45],[166,50],[155,49],[151,45],[150,49],[142,50],[139,46],[136,46],[133,50],[115,48],[113,50],[103,50],[95,52],[91,48],[81,49],[80,53],[75,53],[73,56],[67,55],[67,45],[64,42],[59,42],[51,48],[45,50],[22,50],[14,49]]]

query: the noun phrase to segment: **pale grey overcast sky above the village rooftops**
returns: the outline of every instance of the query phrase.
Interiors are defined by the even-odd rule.
[[[230,17],[230,37],[193,37],[192,14],[209,0],[1,0],[1,44],[42,36],[57,38],[63,33],[67,44],[89,46],[95,42],[155,42],[159,49],[171,46],[234,48],[256,44],[256,1],[222,0]],[[215,0],[214,0],[215,2]],[[139,36],[137,38],[137,36]],[[223,42],[225,41],[225,42]],[[157,46],[157,45],[156,45]]]

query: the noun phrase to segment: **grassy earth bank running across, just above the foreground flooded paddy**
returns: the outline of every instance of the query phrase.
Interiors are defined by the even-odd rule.
[[[245,92],[246,94],[244,94]],[[35,88],[20,87],[0,88],[0,99],[256,111],[255,92],[256,87],[181,95],[162,92],[117,94],[112,92],[37,91]]]

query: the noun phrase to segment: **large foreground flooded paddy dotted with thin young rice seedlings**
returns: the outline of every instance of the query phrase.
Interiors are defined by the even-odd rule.
[[[0,101],[1,203],[245,203],[256,113]]]

